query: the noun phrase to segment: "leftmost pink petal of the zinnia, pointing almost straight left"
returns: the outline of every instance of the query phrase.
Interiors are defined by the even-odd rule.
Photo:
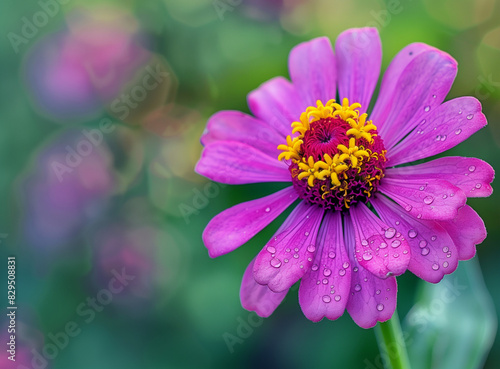
[[[286,164],[277,157],[236,141],[205,146],[195,170],[212,181],[227,184],[291,181]]]

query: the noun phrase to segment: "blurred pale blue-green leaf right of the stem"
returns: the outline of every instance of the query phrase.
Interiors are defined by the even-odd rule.
[[[413,369],[481,368],[497,317],[477,258],[438,284],[423,283],[403,331]]]

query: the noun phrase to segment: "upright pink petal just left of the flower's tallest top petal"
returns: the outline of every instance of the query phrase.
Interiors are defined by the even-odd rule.
[[[303,109],[321,100],[326,103],[335,98],[335,57],[327,37],[315,38],[295,46],[290,52],[288,69],[299,92]]]

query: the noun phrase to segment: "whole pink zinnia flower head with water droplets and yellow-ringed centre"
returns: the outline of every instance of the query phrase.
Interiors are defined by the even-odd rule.
[[[302,43],[289,56],[291,82],[276,77],[249,94],[255,117],[222,111],[208,121],[198,173],[227,184],[291,182],[213,218],[203,233],[211,257],[300,199],[248,266],[244,308],[269,316],[301,279],[308,319],[337,319],[347,309],[373,327],[394,313],[395,276],[409,269],[437,283],[486,237],[466,200],[491,194],[490,165],[463,157],[408,165],[487,124],[473,97],[443,103],[456,61],[422,43],[406,46],[369,112],[381,59],[374,28],[342,33],[335,53],[325,37]]]

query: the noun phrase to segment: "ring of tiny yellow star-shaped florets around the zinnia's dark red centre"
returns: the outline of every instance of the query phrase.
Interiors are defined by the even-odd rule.
[[[335,100],[329,100],[325,105],[321,101],[316,102],[317,106],[310,106],[300,115],[300,121],[292,123],[292,134],[299,133],[298,136],[291,138],[287,136],[286,145],[279,145],[278,150],[283,152],[279,154],[279,160],[292,160],[299,167],[297,178],[299,180],[307,178],[309,187],[313,187],[315,180],[325,181],[330,179],[334,187],[346,187],[342,185],[342,179],[347,179],[346,171],[350,168],[361,170],[363,160],[369,160],[372,154],[371,150],[366,150],[362,145],[358,145],[357,140],[363,138],[368,143],[373,143],[374,133],[377,129],[372,121],[366,121],[367,114],[359,114],[359,103],[349,104],[349,100],[344,98],[342,105],[337,104]],[[316,160],[312,156],[305,158],[303,156],[302,144],[304,135],[311,128],[311,123],[326,118],[342,119],[351,127],[346,135],[349,136],[349,147],[339,144],[338,153],[333,157],[324,154],[323,160]],[[377,154],[378,155],[378,154]],[[377,156],[378,157],[378,156]]]

